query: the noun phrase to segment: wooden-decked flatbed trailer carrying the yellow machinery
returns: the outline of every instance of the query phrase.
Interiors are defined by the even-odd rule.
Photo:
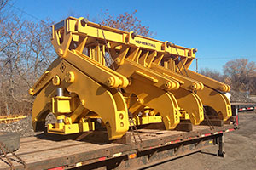
[[[15,155],[26,162],[26,169],[139,169],[211,145],[217,145],[218,156],[224,156],[224,133],[236,128],[234,124],[224,124],[223,127],[194,126],[191,132],[143,128],[128,132],[116,143],[110,143],[107,133],[103,131],[80,136],[42,133],[20,139],[20,149]],[[24,165],[14,156],[9,158],[15,169],[24,169]],[[0,170],[9,169],[9,162],[3,156],[1,159]]]

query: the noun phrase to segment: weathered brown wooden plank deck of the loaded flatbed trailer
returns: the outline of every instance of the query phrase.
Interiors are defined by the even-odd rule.
[[[225,125],[228,127],[228,125]],[[216,127],[216,130],[224,127]],[[195,135],[200,132],[211,132],[208,126],[194,126],[191,133],[181,131],[166,131],[166,130],[152,130],[152,129],[139,129],[144,144],[155,143],[160,139],[163,142],[169,142],[170,140],[183,138],[183,135]],[[131,133],[131,132],[130,132]],[[105,134],[105,133],[103,133]],[[97,140],[106,140],[105,137],[101,137],[100,133],[95,136],[91,136],[94,140],[82,139],[80,141],[75,140],[76,136],[60,136],[60,135],[38,135],[37,137],[28,137],[20,139],[20,149],[15,152],[17,156],[26,162],[28,165],[34,165],[40,162],[47,162],[48,160],[56,160],[63,157],[73,157],[75,155],[85,156],[86,159],[90,159],[90,155],[96,156],[99,150],[103,150],[102,153],[107,154],[109,151],[116,153],[118,150],[132,150],[132,147],[128,144],[116,144],[109,143],[108,141],[102,141],[101,143]],[[102,139],[101,139],[102,138]],[[131,138],[133,140],[133,138]],[[138,139],[138,137],[136,138]],[[168,140],[168,141],[167,141]],[[134,142],[134,141],[133,141]],[[106,153],[104,150],[107,150]],[[88,156],[86,154],[89,154]],[[79,158],[80,159],[80,158]],[[84,158],[85,159],[85,158]],[[19,163],[14,161],[14,165],[18,166]],[[4,161],[0,160],[0,170],[8,168]]]

